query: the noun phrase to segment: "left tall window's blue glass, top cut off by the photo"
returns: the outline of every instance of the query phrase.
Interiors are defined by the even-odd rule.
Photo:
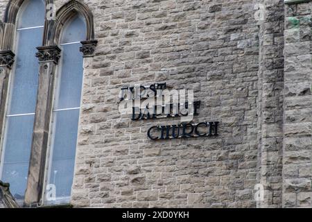
[[[43,0],[22,3],[17,15],[15,67],[10,76],[0,178],[10,183],[18,200],[24,198],[31,154],[39,65],[36,47],[42,44]]]

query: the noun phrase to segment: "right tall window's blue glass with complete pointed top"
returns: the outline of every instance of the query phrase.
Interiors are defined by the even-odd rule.
[[[86,33],[85,19],[76,15],[65,24],[60,37],[62,56],[56,78],[47,181],[55,185],[56,203],[68,203],[71,196],[83,87],[80,41],[85,40]]]

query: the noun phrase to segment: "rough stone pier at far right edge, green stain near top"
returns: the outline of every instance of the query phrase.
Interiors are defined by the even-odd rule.
[[[283,207],[311,207],[312,1],[285,1]]]

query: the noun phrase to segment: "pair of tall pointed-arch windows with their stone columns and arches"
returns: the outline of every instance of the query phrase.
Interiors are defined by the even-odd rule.
[[[83,58],[97,44],[87,6],[71,0],[51,19],[49,2],[10,0],[0,24],[0,180],[27,206],[69,203]]]

